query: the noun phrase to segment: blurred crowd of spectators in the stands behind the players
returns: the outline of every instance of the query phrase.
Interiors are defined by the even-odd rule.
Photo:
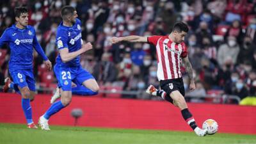
[[[194,68],[196,90],[187,100],[207,102],[207,95],[240,99],[256,95],[256,1],[255,0],[10,0],[0,2],[0,33],[15,22],[15,6],[27,6],[29,24],[52,64],[55,63],[56,28],[62,6],[74,6],[82,22],[82,38],[93,50],[81,56],[81,65],[92,72],[101,90],[116,88],[124,98],[156,99],[142,92],[149,84],[158,87],[156,49],[150,44],[111,45],[112,36],[168,35],[173,24],[189,25],[186,36],[189,60]],[[8,77],[10,49],[1,47],[0,85]],[[55,88],[53,72],[47,72],[42,58],[34,54],[38,88]],[[40,91],[44,92],[44,90]],[[199,97],[200,96],[200,97]],[[220,102],[220,100],[215,100]],[[225,103],[237,104],[227,99]]]

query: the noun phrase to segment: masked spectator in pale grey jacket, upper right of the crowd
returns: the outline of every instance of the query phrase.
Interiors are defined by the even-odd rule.
[[[217,54],[219,65],[223,65],[227,58],[232,58],[232,63],[236,64],[237,55],[239,54],[240,47],[237,44],[236,37],[228,36],[227,42],[220,45]]]

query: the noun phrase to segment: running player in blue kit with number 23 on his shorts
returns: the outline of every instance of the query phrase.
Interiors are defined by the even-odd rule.
[[[77,12],[72,6],[61,8],[62,22],[56,33],[56,44],[59,54],[54,65],[54,73],[61,88],[61,100],[54,102],[51,107],[40,116],[38,124],[43,130],[50,130],[49,118],[68,106],[72,97],[72,81],[83,84],[92,92],[98,92],[99,86],[92,74],[80,65],[80,54],[92,49],[92,44],[82,45],[81,22],[77,19]]]

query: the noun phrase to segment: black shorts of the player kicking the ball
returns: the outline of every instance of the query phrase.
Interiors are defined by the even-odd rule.
[[[161,90],[164,90],[164,92],[167,93],[167,95],[170,95],[170,93],[173,91],[178,90],[183,95],[183,97],[185,96],[185,88],[182,77],[177,79],[161,80],[160,87]]]

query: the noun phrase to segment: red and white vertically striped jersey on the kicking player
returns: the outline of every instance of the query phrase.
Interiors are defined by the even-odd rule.
[[[188,55],[184,42],[176,44],[168,36],[148,36],[148,43],[156,46],[158,81],[182,77],[181,58]]]

